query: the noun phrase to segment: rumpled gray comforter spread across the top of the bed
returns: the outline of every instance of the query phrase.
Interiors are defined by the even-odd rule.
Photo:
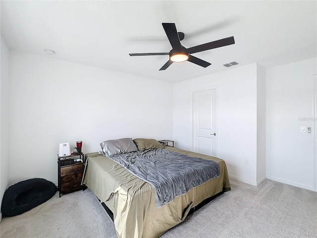
[[[155,206],[161,207],[210,179],[219,177],[219,164],[166,149],[111,156],[130,173],[155,187]]]

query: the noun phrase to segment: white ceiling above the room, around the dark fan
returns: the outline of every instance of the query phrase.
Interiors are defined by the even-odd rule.
[[[264,67],[317,57],[317,1],[0,1],[1,36],[10,49],[178,82],[258,62]],[[234,36],[235,44],[195,53],[211,63],[159,68],[169,52],[162,22],[193,47]],[[49,56],[44,49],[56,52]]]

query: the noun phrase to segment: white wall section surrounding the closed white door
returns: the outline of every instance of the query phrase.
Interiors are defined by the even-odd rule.
[[[218,157],[232,178],[257,185],[257,63],[174,84],[173,138],[190,150],[190,91],[218,85]],[[245,165],[245,160],[249,165]]]

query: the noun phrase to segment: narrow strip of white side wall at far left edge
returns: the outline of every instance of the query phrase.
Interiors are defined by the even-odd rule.
[[[9,50],[0,42],[0,202],[9,185]]]

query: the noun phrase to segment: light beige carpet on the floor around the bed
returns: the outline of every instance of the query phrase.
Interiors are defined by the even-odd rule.
[[[266,179],[234,179],[226,192],[161,238],[317,238],[317,192]],[[0,238],[115,238],[93,193],[58,194],[22,215],[3,218]]]

